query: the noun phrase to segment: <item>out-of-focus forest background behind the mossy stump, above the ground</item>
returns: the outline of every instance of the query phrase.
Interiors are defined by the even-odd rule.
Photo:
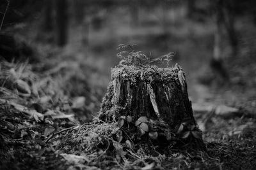
[[[34,69],[79,65],[76,76],[84,74],[100,103],[110,67],[119,62],[118,44],[136,44],[152,58],[175,52],[172,63],[188,74],[193,103],[254,111],[255,6],[253,0],[1,0],[0,55],[29,60]],[[68,87],[73,96],[88,96],[78,81]]]

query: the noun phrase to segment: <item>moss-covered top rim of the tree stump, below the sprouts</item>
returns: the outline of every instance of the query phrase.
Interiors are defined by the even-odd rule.
[[[177,81],[178,72],[182,70],[175,64],[173,67],[161,68],[157,66],[129,66],[118,65],[111,69],[111,79],[136,81],[138,78],[143,81]]]

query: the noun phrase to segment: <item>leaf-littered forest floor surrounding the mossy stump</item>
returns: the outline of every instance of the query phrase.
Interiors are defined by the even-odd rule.
[[[100,42],[104,41],[97,44],[95,36],[89,52],[85,52],[83,46],[76,46],[74,31],[75,38],[70,39],[73,46],[64,50],[38,47],[47,54],[41,53],[36,64],[1,62],[0,169],[255,169],[256,52],[250,38],[253,29],[239,28],[243,35],[239,40],[241,49],[236,57],[224,59],[230,80],[220,85],[212,81],[214,77],[207,69],[212,36],[205,30],[212,25],[196,26],[195,31],[192,22],[182,25],[188,30],[180,30],[176,24],[167,40],[173,46],[168,48],[162,48],[163,39],[158,39],[163,32],[155,37],[147,34],[152,30],[135,32],[122,28],[127,32],[117,31],[114,38],[108,37],[113,36],[108,29],[100,34],[94,32],[99,34]],[[206,151],[169,147],[168,152],[163,152],[141,143],[129,147],[129,143],[111,139],[118,131],[117,123],[96,121],[109,81],[109,67],[118,63],[113,49],[117,43],[138,39],[139,47],[155,57],[170,51],[179,53],[177,62],[187,73],[189,97],[203,131]],[[147,44],[148,41],[154,43]],[[224,52],[229,52],[228,46]],[[210,77],[207,85],[198,82],[205,73]],[[216,111],[212,115],[212,108],[223,105],[228,106],[226,112],[221,112],[224,115]]]

